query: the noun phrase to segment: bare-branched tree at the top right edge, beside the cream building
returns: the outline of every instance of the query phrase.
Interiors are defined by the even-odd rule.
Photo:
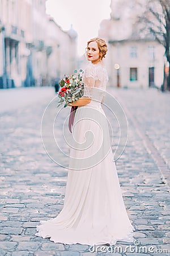
[[[170,2],[169,0],[146,0],[143,15],[139,17],[141,32],[155,37],[164,46],[165,56],[169,63],[167,89],[170,90]]]

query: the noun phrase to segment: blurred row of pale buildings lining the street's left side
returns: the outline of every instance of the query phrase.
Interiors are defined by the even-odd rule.
[[[76,32],[45,13],[46,0],[0,0],[0,88],[52,85],[73,73]]]

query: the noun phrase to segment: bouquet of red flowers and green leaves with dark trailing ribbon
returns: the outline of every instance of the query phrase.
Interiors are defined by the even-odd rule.
[[[59,81],[59,85],[61,86],[61,89],[58,92],[58,97],[59,97],[59,105],[62,105],[63,102],[65,102],[64,108],[71,103],[75,102],[78,100],[80,97],[83,96],[84,93],[84,84],[82,82],[82,76],[83,71],[82,69],[74,71],[74,75],[66,76],[65,79],[62,79]],[[58,107],[57,106],[57,107]],[[72,106],[71,107],[71,112],[70,112],[70,117],[69,117],[69,130],[70,133],[71,131],[71,125],[73,125],[74,122],[74,117],[75,117],[75,112],[78,106]]]

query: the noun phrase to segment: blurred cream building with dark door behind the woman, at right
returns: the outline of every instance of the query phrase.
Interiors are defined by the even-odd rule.
[[[111,18],[101,22],[99,36],[109,45],[111,86],[145,88],[163,84],[164,47],[141,32],[137,24],[143,4],[145,0],[112,0]]]

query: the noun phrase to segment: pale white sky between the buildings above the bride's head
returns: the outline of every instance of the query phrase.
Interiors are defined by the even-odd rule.
[[[109,19],[111,0],[48,0],[46,13],[54,17],[63,30],[73,24],[78,32],[78,55],[83,55],[86,43],[97,36],[100,22]]]

